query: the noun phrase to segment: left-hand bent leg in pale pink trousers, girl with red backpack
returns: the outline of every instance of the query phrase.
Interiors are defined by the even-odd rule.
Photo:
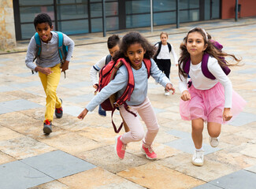
[[[132,113],[128,113],[128,111],[124,109],[124,106],[119,107],[121,117],[123,117],[124,122],[128,125],[128,128],[130,129],[129,132],[125,132],[122,135],[121,141],[124,144],[140,141],[144,137],[143,125],[140,123],[139,115],[137,112],[138,107],[139,106],[130,106],[129,109],[130,111],[135,113],[137,117],[132,115]]]

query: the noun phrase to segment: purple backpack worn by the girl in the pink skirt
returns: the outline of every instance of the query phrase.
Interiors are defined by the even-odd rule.
[[[217,50],[220,50],[220,51],[222,50],[223,46],[220,43],[217,43],[217,41],[211,40],[211,43],[213,43],[213,46],[215,46],[217,48]],[[202,64],[201,64],[202,74],[211,80],[215,80],[216,77],[213,76],[213,74],[209,71],[208,66],[207,66],[209,56],[210,56],[209,54],[203,54],[203,56],[202,56]],[[224,61],[224,57],[221,57],[221,59]],[[187,75],[188,75],[189,69],[190,69],[190,62],[191,62],[191,59],[189,57],[183,66],[184,72],[186,72]],[[228,68],[228,66],[221,67],[221,69],[227,76],[231,72],[231,70]]]

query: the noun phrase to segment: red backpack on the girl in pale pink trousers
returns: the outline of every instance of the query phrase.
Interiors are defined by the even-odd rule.
[[[147,76],[150,77],[151,61],[149,59],[143,59],[143,62],[147,68]],[[117,75],[117,70],[121,67],[121,65],[124,65],[128,71],[128,83],[124,90],[123,95],[121,95],[120,98],[117,98],[116,97],[117,94],[113,94],[101,104],[102,109],[106,111],[112,111],[111,119],[112,119],[114,131],[116,133],[120,132],[123,126],[123,123],[121,123],[120,127],[117,129],[116,125],[113,123],[113,112],[116,109],[118,109],[118,106],[121,106],[124,104],[124,108],[129,113],[132,113],[128,109],[128,105],[126,104],[127,100],[130,101],[132,92],[134,90],[134,84],[135,84],[135,80],[132,72],[132,66],[129,62],[125,61],[124,58],[119,58],[117,61],[109,61],[109,63],[105,65],[99,72],[99,80],[98,80],[98,91],[102,91],[102,88],[106,87],[106,85],[108,85],[108,83],[115,78],[115,76]],[[132,113],[132,114],[136,117],[135,113]]]

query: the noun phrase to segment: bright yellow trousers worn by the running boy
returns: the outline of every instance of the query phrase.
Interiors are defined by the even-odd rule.
[[[47,119],[49,121],[52,121],[54,119],[55,108],[61,108],[61,101],[56,94],[56,89],[61,79],[60,64],[55,65],[50,69],[52,71],[51,74],[46,75],[42,72],[39,72],[39,77],[40,77],[41,83],[43,84],[43,89],[46,93],[45,120]]]

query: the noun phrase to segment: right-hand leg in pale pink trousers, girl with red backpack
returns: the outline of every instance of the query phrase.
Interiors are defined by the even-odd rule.
[[[154,138],[158,134],[159,125],[149,98],[146,98],[145,102],[143,102],[143,105],[138,109],[138,113],[147,126],[144,143],[146,147],[151,146]]]

